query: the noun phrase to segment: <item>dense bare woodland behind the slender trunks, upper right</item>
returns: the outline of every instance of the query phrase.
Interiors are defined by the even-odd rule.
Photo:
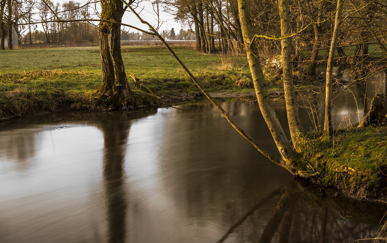
[[[281,45],[276,37],[281,36],[281,25],[277,0],[246,1],[253,28],[260,36],[266,37],[260,38],[260,50],[266,55],[279,53]],[[169,13],[175,15],[177,21],[189,26],[195,33],[198,51],[244,51],[237,0],[164,0],[163,4]],[[354,6],[357,6],[358,10],[354,10]],[[310,49],[313,52],[311,59],[315,61],[321,49],[329,49],[335,12],[336,1],[290,1],[291,31],[299,32],[294,37],[293,51]],[[375,43],[375,35],[382,40],[387,36],[384,24],[387,16],[385,3],[375,0],[344,1],[342,12],[344,19],[337,47],[340,56],[348,55],[346,46],[355,48],[356,57],[366,56],[369,44]],[[369,27],[365,25],[365,21]]]

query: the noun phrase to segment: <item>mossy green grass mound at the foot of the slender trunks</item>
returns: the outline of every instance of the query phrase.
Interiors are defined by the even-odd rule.
[[[339,129],[334,139],[307,133],[297,166],[305,175],[319,172],[316,180],[359,197],[375,196],[385,189],[387,175],[387,127]]]

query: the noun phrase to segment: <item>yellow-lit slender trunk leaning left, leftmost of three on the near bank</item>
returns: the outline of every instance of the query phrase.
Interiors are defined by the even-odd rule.
[[[283,128],[279,123],[276,113],[271,104],[271,99],[268,92],[268,84],[264,79],[262,66],[260,64],[258,53],[258,41],[253,39],[254,32],[252,30],[252,22],[250,12],[248,10],[247,2],[244,0],[238,0],[239,18],[241,22],[242,35],[245,42],[245,50],[250,66],[250,72],[253,79],[255,93],[257,95],[258,104],[262,115],[265,119],[267,126],[274,138],[278,151],[281,153],[281,157],[284,161],[283,167],[287,168],[293,175],[296,172],[291,168],[291,155],[293,153],[293,147],[288,143]]]

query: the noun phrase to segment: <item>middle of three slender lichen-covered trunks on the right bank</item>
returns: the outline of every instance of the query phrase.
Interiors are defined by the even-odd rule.
[[[281,19],[281,36],[291,34],[289,2],[288,0],[278,0],[279,17]],[[296,150],[301,141],[303,128],[300,117],[298,116],[298,106],[296,104],[296,95],[293,84],[293,70],[291,58],[291,38],[281,40],[282,69],[284,80],[284,93],[286,102],[286,113],[288,115],[288,124],[290,129],[291,140]]]

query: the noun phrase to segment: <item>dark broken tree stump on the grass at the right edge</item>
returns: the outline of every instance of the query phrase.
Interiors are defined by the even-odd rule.
[[[371,123],[380,124],[387,121],[384,94],[378,93],[373,97],[370,111],[363,117],[358,127],[366,127]]]

